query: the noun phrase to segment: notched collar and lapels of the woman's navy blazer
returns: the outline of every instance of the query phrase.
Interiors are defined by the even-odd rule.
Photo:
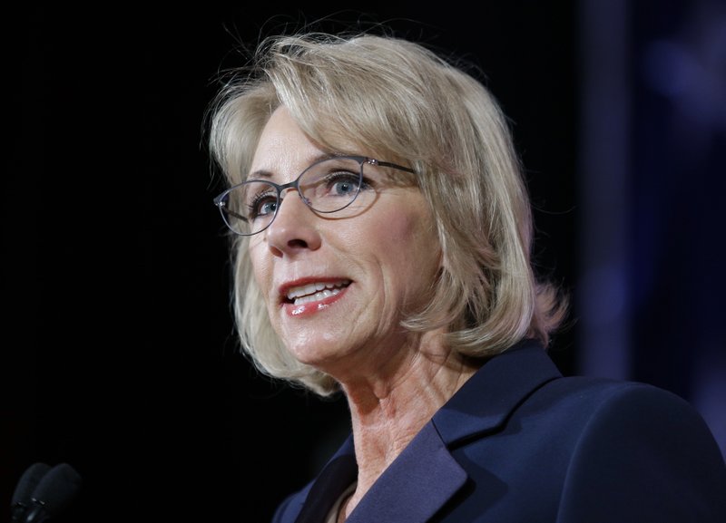
[[[466,470],[449,449],[466,438],[495,431],[526,396],[561,376],[534,342],[522,342],[488,360],[390,464],[348,523],[427,521],[466,483]],[[296,523],[324,521],[357,472],[348,437],[310,487]]]

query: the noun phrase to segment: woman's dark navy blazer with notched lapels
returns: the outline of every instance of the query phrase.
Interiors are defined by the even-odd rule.
[[[356,480],[352,438],[274,523],[320,523]],[[348,523],[726,523],[726,464],[701,416],[643,383],[563,377],[543,348],[497,355],[421,429]]]

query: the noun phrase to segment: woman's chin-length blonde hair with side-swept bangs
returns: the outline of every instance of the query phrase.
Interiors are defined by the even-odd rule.
[[[434,298],[404,326],[445,326],[451,349],[473,358],[527,337],[549,344],[566,300],[535,277],[533,217],[511,133],[473,74],[393,36],[316,33],[264,41],[238,73],[210,108],[211,155],[229,184],[246,176],[262,128],[280,105],[330,150],[353,142],[367,154],[406,162],[435,217],[443,266]],[[285,349],[252,276],[248,239],[232,241],[242,349],[263,373],[320,395],[336,391],[329,375]]]

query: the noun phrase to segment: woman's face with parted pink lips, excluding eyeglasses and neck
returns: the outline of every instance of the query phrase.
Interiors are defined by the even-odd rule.
[[[324,152],[280,107],[262,132],[250,178],[264,171],[287,183]],[[361,190],[375,198],[355,216],[316,214],[289,189],[270,227],[250,237],[275,330],[300,362],[338,378],[401,356],[407,333],[399,324],[428,303],[440,263],[420,191],[387,183],[389,169],[371,169],[371,187]]]

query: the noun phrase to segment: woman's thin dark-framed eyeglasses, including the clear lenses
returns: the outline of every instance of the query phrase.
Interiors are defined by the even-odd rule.
[[[316,161],[297,179],[284,185],[266,179],[243,181],[217,196],[214,205],[220,209],[227,227],[240,236],[251,236],[269,228],[278,215],[282,191],[290,188],[297,189],[300,199],[316,213],[340,213],[346,209],[345,216],[338,215],[345,218],[375,199],[367,172],[376,166],[415,173],[413,169],[365,156],[334,156]]]

